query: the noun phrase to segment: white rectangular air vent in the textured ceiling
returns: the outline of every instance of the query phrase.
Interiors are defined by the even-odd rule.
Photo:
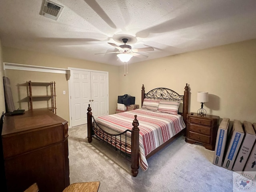
[[[63,10],[63,6],[58,5],[54,2],[51,2],[49,0],[45,0],[43,7],[42,7],[42,11],[41,11],[41,15],[45,16],[47,18],[53,19],[53,20],[57,20],[60,16],[60,13]]]

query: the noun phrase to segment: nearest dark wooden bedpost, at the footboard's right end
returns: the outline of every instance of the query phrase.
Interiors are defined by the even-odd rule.
[[[132,176],[136,177],[139,172],[139,122],[137,120],[137,115],[134,115],[134,120],[132,122],[132,154],[131,154],[131,161],[132,161]]]

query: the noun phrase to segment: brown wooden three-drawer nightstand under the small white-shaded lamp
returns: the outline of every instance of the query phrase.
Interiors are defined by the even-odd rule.
[[[187,135],[185,141],[202,144],[206,149],[214,150],[218,131],[219,116],[197,113],[187,114]]]

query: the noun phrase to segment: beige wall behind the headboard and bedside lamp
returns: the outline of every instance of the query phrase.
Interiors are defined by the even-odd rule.
[[[136,96],[141,105],[141,87],[157,87],[180,94],[190,87],[190,112],[197,112],[199,91],[209,92],[204,106],[208,114],[230,120],[256,122],[256,39],[200,51],[168,56],[119,67],[119,94]]]

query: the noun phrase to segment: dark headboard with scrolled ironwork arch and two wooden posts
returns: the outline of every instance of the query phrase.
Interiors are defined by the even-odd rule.
[[[142,84],[141,90],[141,106],[143,105],[144,98],[151,99],[162,99],[162,100],[172,100],[182,102],[182,112],[179,112],[183,116],[185,124],[187,124],[187,114],[188,114],[188,84],[184,88],[184,95],[180,95],[174,90],[168,88],[155,88],[150,90],[148,93],[145,93],[144,84]]]

